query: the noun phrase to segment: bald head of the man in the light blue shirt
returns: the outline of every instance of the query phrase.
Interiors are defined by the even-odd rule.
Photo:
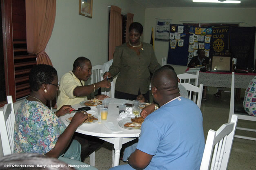
[[[178,77],[170,68],[161,67],[153,74],[152,84],[158,91],[173,91],[178,88]]]

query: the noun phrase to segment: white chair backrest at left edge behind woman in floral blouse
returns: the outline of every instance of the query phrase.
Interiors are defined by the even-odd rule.
[[[4,105],[4,110],[0,111],[0,135],[4,156],[12,154],[14,148],[15,112],[11,96],[7,96],[7,102]]]

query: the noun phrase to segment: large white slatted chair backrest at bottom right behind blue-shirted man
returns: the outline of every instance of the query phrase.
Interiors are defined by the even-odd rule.
[[[238,116],[232,115],[231,121],[217,131],[209,130],[200,170],[209,170],[210,165],[211,170],[227,170],[237,119]]]

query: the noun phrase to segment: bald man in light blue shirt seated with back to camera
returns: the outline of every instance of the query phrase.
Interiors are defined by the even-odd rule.
[[[151,87],[161,107],[142,123],[137,149],[128,164],[110,170],[198,170],[205,146],[200,109],[179,97],[178,77],[169,68],[153,74]]]

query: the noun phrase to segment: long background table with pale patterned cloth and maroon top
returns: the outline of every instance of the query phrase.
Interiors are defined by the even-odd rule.
[[[186,73],[196,74],[196,72]],[[235,88],[247,88],[256,73],[235,73]],[[231,88],[231,73],[226,72],[199,72],[198,84],[210,87]]]

